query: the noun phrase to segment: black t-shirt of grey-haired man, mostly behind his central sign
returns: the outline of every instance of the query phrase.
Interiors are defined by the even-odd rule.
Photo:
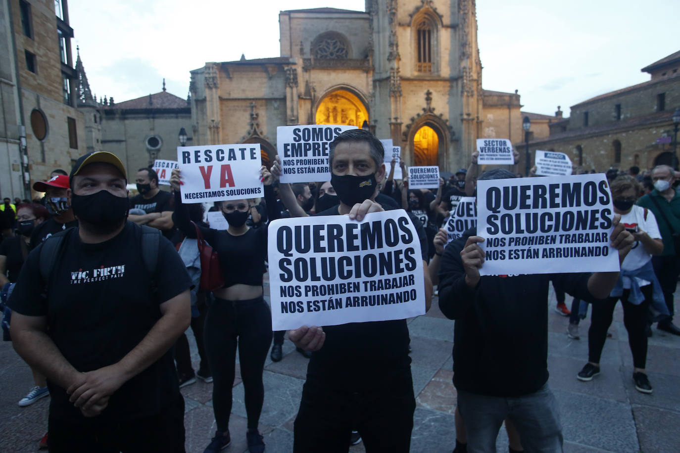
[[[317,215],[339,215],[333,206]],[[383,209],[390,211],[388,205]],[[418,232],[422,258],[427,260],[427,238],[420,221],[409,214]],[[307,380],[345,391],[380,388],[386,380],[409,372],[409,328],[405,319],[324,326],[324,346],[314,352]]]

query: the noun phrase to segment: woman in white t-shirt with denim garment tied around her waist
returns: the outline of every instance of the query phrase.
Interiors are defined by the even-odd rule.
[[[614,289],[606,300],[592,304],[592,318],[588,330],[588,363],[577,374],[589,381],[600,374],[600,355],[607,340],[616,303],[624,308],[624,325],[628,331],[628,344],[633,356],[633,381],[642,393],[651,393],[645,363],[647,361],[647,311],[654,300],[664,300],[661,287],[651,265],[651,256],[664,250],[659,227],[653,213],[637,206],[640,183],[629,175],[615,178],[611,183],[614,213],[621,215],[621,223],[636,240],[630,253],[621,264],[621,273]]]

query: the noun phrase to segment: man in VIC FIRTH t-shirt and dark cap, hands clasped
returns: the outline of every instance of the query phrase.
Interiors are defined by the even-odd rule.
[[[70,183],[78,228],[31,251],[9,301],[14,348],[48,379],[50,452],[184,452],[169,353],[190,322],[184,264],[127,221],[112,153],[82,156]]]

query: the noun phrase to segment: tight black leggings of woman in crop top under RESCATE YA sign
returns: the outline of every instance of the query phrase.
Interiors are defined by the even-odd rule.
[[[205,352],[213,374],[213,411],[218,431],[226,431],[231,415],[232,388],[239,348],[248,428],[260,421],[265,386],[262,370],[271,345],[271,312],[262,297],[216,299],[205,319]]]

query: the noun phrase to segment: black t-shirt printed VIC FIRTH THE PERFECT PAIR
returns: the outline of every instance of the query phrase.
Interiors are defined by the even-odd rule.
[[[155,275],[150,275],[141,255],[141,227],[130,221],[118,236],[99,244],[84,244],[78,229],[70,230],[46,285],[39,269],[41,250],[31,251],[9,305],[27,316],[46,316],[48,335],[80,372],[120,361],[160,319],[159,305],[192,285],[180,255],[164,238]],[[152,284],[158,288],[155,295]],[[41,297],[45,287],[46,299]],[[52,414],[82,418],[65,389],[49,380],[48,386]],[[101,417],[157,414],[175,401],[178,391],[168,351],[123,384]]]

